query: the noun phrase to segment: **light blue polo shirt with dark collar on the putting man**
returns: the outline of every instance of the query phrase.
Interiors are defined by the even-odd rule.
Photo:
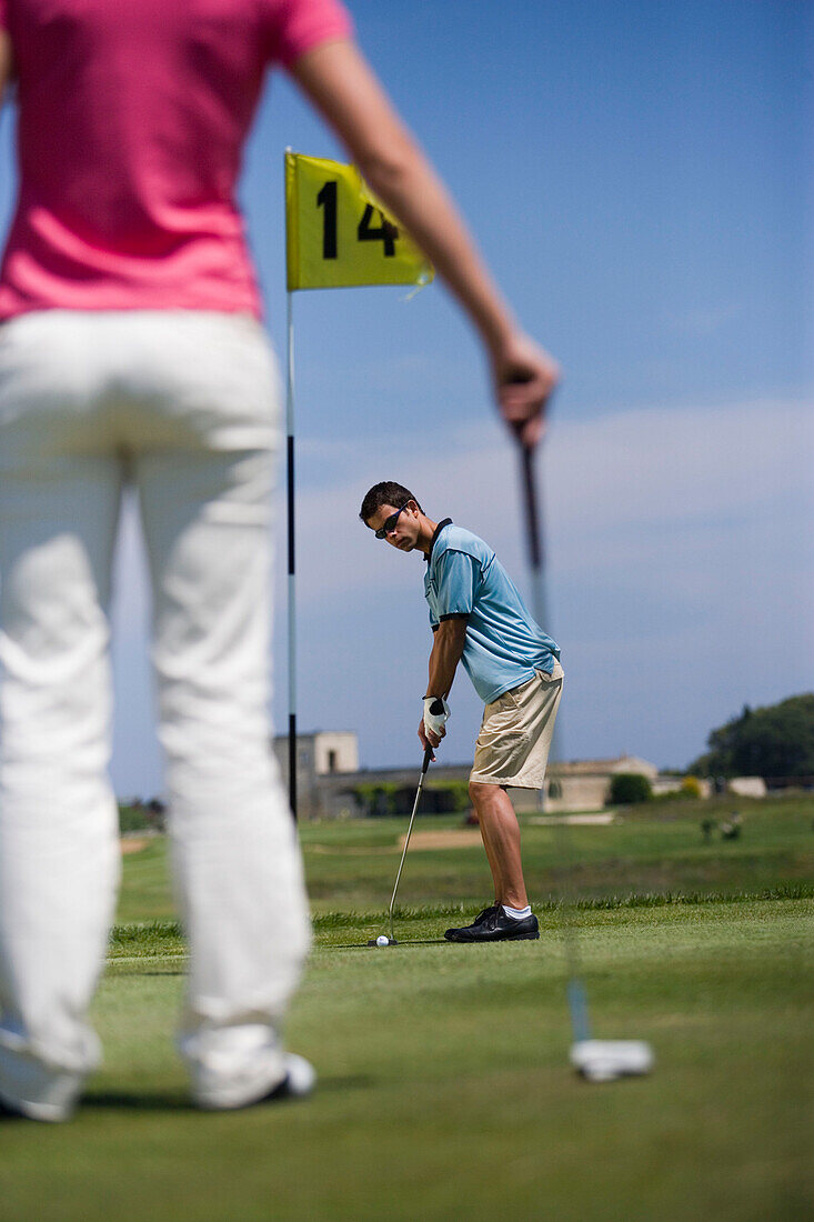
[[[489,544],[451,518],[439,523],[433,536],[424,598],[433,631],[442,620],[468,616],[461,661],[484,704],[528,682],[535,671],[550,675],[560,657]]]

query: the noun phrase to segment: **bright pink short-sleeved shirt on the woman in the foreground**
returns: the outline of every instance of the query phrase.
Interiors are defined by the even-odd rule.
[[[243,144],[269,65],[350,35],[340,0],[0,0],[0,28],[20,160],[0,320],[259,315],[235,200]]]

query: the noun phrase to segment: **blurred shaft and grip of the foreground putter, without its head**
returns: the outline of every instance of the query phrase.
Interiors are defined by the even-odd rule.
[[[521,446],[521,461],[523,468],[523,491],[526,499],[526,529],[528,541],[528,557],[532,569],[532,610],[534,618],[545,631],[549,622],[545,599],[545,574],[544,574],[544,547],[543,532],[540,527],[540,508],[537,495],[537,481],[534,479],[534,451],[528,446]],[[555,737],[551,739],[549,761],[556,758]],[[562,882],[560,887],[560,929],[562,932],[562,945],[566,953],[568,970],[568,1011],[571,1014],[571,1028],[574,1040],[590,1039],[590,1022],[588,1018],[588,997],[582,982],[582,957],[579,953],[579,940],[573,919],[573,897],[571,895],[571,841],[567,827],[563,824],[555,824],[557,841],[560,844],[560,858],[562,862]]]

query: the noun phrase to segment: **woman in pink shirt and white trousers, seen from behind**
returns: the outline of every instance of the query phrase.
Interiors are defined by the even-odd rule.
[[[196,1102],[306,1094],[280,1025],[309,926],[269,750],[274,359],[235,203],[286,68],[477,327],[527,445],[556,381],[339,0],[0,0],[20,198],[0,270],[0,1111],[67,1117],[119,877],[106,607],[122,489],[152,582]]]

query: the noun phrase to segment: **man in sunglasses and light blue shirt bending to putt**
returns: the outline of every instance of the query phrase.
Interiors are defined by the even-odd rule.
[[[450,942],[539,937],[526,895],[517,816],[507,786],[539,789],[562,694],[560,650],[532,620],[491,547],[451,518],[433,522],[401,484],[375,484],[362,501],[362,521],[400,551],[427,561],[424,596],[433,651],[418,737],[438,747],[450,715],[446,697],[460,661],[485,704],[469,774],[469,797],[495,884],[495,902]],[[441,712],[433,709],[442,708]]]

